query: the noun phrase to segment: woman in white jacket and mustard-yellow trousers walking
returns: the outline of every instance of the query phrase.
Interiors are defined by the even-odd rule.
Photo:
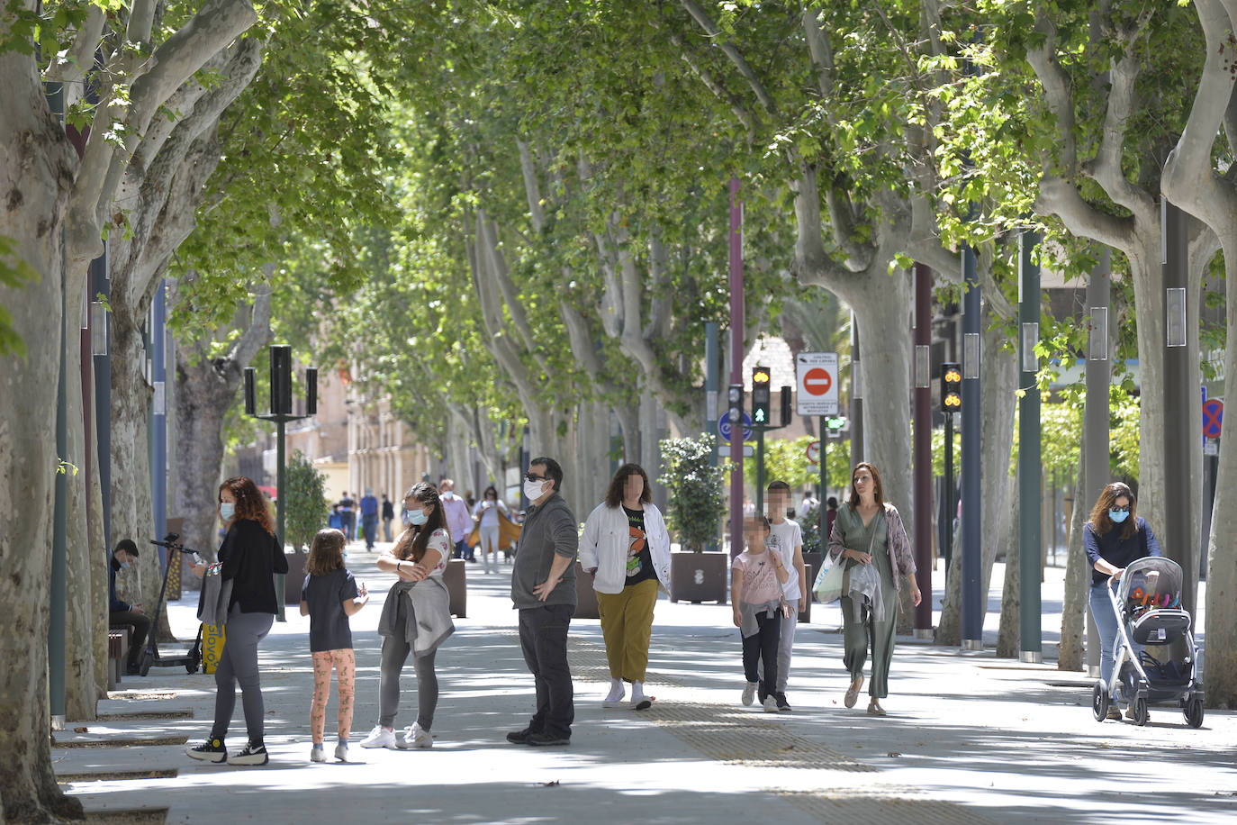
[[[638,464],[618,468],[606,500],[589,513],[580,564],[593,574],[610,662],[610,694],[602,706],[621,705],[623,683],[630,682],[631,706],[644,710],[652,704],[644,695],[644,670],[653,605],[658,583],[669,586],[670,536]]]

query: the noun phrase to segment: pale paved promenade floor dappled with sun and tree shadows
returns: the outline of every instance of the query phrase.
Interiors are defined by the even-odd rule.
[[[357,544],[354,548],[360,547]],[[169,823],[1108,823],[1165,819],[1233,821],[1237,815],[1237,715],[1207,711],[1201,730],[1178,710],[1153,707],[1145,727],[1095,722],[1090,682],[1051,665],[1021,665],[902,639],[894,653],[886,719],[841,705],[841,617],[836,606],[800,625],[788,691],[794,712],[742,707],[737,630],[730,609],[657,605],[644,712],[602,710],[609,688],[596,620],[571,627],[576,722],[567,748],[508,745],[503,733],[532,712],[507,597],[511,566],[489,576],[469,566],[469,616],[438,656],[442,689],[428,752],[355,746],[377,711],[380,639],[375,632],[390,578],[374,555],[350,555],[374,604],[353,617],[357,764],[309,763],[313,691],[308,620],[288,611],[261,647],[271,764],[239,768],[194,762],[181,743],[120,746],[118,740],[197,742],[210,726],[214,683],[183,668],[126,678],[100,703],[121,715],[58,735],[62,777],[136,772],[142,778],[79,780],[71,792],[89,810],[167,808]],[[1049,570],[1045,606],[1059,605]],[[999,575],[993,576],[999,588]],[[1054,591],[1054,588],[1056,590]],[[939,590],[938,590],[939,592]],[[998,595],[998,594],[996,594]],[[195,599],[171,607],[184,638]],[[1059,606],[1056,607],[1059,610]],[[988,626],[995,631],[996,616]],[[1045,642],[1059,615],[1044,620]],[[1045,644],[1045,656],[1051,656]],[[411,665],[396,725],[413,721]],[[328,706],[328,753],[334,737]],[[178,717],[135,717],[137,712]],[[244,745],[240,703],[229,747]],[[127,819],[120,821],[141,821]],[[157,821],[157,820],[156,820]]]

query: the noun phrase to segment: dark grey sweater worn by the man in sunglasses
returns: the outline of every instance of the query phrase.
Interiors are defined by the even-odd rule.
[[[517,610],[544,605],[575,606],[575,558],[580,549],[580,528],[567,501],[559,494],[552,495],[539,507],[528,510],[524,526],[516,544],[516,564],[511,573],[511,601]],[[563,580],[550,591],[546,601],[537,597],[533,588],[549,576],[554,557],[571,559],[563,573]]]

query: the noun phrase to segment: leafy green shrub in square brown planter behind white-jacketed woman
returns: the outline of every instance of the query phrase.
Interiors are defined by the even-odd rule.
[[[670,558],[670,601],[726,604],[730,559],[725,553],[704,552],[717,541],[717,526],[726,515],[722,469],[711,463],[716,450],[713,435],[662,442],[666,522],[684,549]]]

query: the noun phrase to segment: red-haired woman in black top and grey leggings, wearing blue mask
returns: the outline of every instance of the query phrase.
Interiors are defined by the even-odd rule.
[[[228,604],[228,635],[215,669],[215,724],[210,729],[210,738],[189,748],[188,754],[207,762],[266,764],[257,643],[271,632],[275,622],[278,602],[273,576],[288,571],[288,560],[275,536],[266,500],[250,479],[235,476],[219,485],[219,517],[228,531],[219,547],[221,578],[225,584],[231,581],[233,586]],[[205,566],[197,568],[197,571],[202,575]],[[249,743],[229,756],[224,737],[236,706],[238,682]]]

